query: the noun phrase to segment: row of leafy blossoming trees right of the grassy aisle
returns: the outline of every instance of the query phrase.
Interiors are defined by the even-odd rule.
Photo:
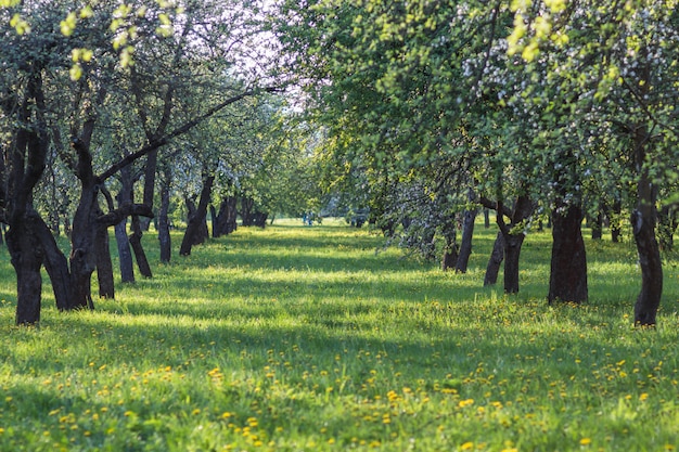
[[[658,208],[665,244],[676,229],[676,3],[281,0],[276,30],[331,138],[323,158],[370,188],[383,230],[407,222],[451,259],[456,218],[492,208],[513,293],[525,233],[549,216],[549,300],[581,302],[585,215],[631,218],[635,321],[652,325]]]

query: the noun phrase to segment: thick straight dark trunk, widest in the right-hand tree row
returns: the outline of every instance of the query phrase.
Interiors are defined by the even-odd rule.
[[[552,260],[549,302],[584,302],[588,298],[587,256],[580,206],[560,206],[552,216]]]

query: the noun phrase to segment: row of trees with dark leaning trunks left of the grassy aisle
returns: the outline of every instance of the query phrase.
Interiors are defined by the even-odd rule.
[[[114,296],[110,228],[133,281],[132,253],[151,275],[141,235],[153,217],[170,259],[176,199],[188,210],[182,255],[210,203],[216,233],[233,228],[235,196],[245,223],[290,207],[268,181],[281,192],[298,178],[299,148],[268,133],[283,106],[264,73],[272,55],[258,53],[260,18],[257,2],[0,4],[0,222],[17,324],[40,319],[42,267],[61,310],[93,307],[94,271]],[[54,238],[64,230],[67,256]]]

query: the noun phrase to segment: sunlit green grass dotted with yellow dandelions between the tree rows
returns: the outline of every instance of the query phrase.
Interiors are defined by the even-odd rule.
[[[675,260],[637,330],[629,243],[588,242],[590,302],[549,307],[549,233],[512,297],[482,287],[494,236],[459,275],[338,223],[241,229],[94,312],[46,282],[39,328],[1,249],[0,450],[676,450]]]

